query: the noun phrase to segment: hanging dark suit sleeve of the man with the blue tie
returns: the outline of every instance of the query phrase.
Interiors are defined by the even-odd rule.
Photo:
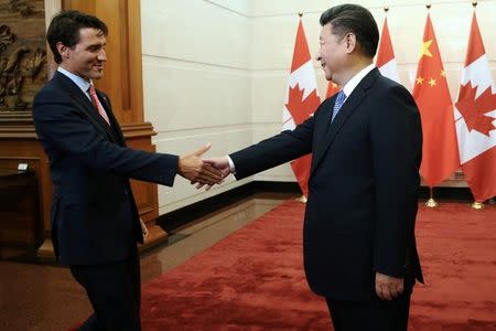
[[[417,215],[422,129],[417,105],[402,86],[390,87],[370,125],[376,182],[376,271],[403,277]]]

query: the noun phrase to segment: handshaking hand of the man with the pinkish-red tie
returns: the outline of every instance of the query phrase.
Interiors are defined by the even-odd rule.
[[[219,184],[223,181],[223,172],[208,162],[202,160],[202,154],[211,149],[207,143],[201,149],[180,157],[177,164],[177,173],[190,180],[191,182],[201,183],[203,185]]]

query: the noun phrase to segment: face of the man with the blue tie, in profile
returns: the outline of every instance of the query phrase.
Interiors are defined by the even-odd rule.
[[[321,62],[325,79],[339,83],[339,71],[343,71],[347,54],[345,38],[333,34],[331,23],[322,26],[320,49],[316,60]]]

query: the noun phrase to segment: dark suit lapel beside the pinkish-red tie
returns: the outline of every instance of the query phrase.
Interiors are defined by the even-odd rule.
[[[117,137],[112,132],[111,128],[108,126],[105,119],[98,114],[98,111],[95,109],[94,105],[84,94],[84,92],[80,90],[80,88],[76,84],[74,84],[74,82],[71,81],[71,78],[66,77],[64,74],[61,74],[60,72],[55,72],[53,79],[60,82],[63,88],[69,93],[71,97],[73,97],[73,99],[75,100],[75,104],[83,113],[85,113],[88,116],[90,122],[95,126],[95,128],[98,131],[106,135],[111,141],[117,142]]]

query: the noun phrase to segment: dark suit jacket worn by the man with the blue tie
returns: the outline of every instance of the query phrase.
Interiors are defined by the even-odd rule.
[[[375,273],[422,280],[414,223],[422,132],[410,93],[374,68],[330,125],[335,96],[292,131],[230,154],[236,178],[312,153],[304,266],[313,291],[368,299]]]

